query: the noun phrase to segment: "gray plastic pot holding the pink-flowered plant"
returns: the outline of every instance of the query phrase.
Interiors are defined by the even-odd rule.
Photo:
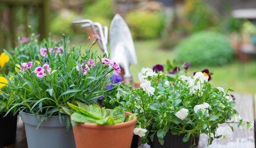
[[[43,121],[36,130],[38,120],[35,115],[30,113],[21,113],[22,121],[25,125],[27,143],[29,148],[72,148],[75,147],[75,140],[72,128],[66,135],[66,118],[59,122],[58,116],[48,118],[47,123]]]

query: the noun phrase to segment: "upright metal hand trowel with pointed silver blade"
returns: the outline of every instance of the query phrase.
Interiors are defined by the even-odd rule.
[[[109,38],[111,59],[124,69],[124,84],[132,83],[129,67],[138,63],[137,56],[129,27],[119,14],[111,22]]]

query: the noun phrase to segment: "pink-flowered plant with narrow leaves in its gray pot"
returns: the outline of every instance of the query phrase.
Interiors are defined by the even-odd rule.
[[[80,53],[82,47],[68,50],[67,40],[63,36],[62,46],[45,40],[45,47],[36,48],[40,54],[26,48],[32,59],[20,57],[19,73],[9,72],[13,78],[7,78],[9,84],[1,91],[14,100],[9,112],[20,111],[28,147],[75,147],[69,116],[60,112],[61,106],[75,100],[95,104],[106,91],[108,76],[120,71],[115,62],[91,52],[98,38],[85,54]]]

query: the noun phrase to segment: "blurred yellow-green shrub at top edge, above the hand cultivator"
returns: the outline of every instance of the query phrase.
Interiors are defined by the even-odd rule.
[[[84,10],[85,19],[93,20],[94,17],[100,17],[112,20],[114,17],[112,0],[97,0],[93,4],[85,6]]]

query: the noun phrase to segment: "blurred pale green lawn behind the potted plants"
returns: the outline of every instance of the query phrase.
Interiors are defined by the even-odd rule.
[[[160,41],[157,39],[135,41],[134,44],[138,64],[131,65],[130,72],[135,82],[139,82],[138,73],[143,67],[152,68],[153,65],[165,64],[166,60],[174,59],[173,51],[159,49]],[[94,50],[98,50],[100,54],[103,53],[97,46],[94,47]],[[237,93],[256,93],[256,60],[246,63],[235,61],[221,67],[189,67],[188,72],[192,76],[193,72],[201,71],[205,68],[208,68],[210,72],[214,72],[213,79],[210,82],[216,87],[223,86],[224,89],[232,87]]]

